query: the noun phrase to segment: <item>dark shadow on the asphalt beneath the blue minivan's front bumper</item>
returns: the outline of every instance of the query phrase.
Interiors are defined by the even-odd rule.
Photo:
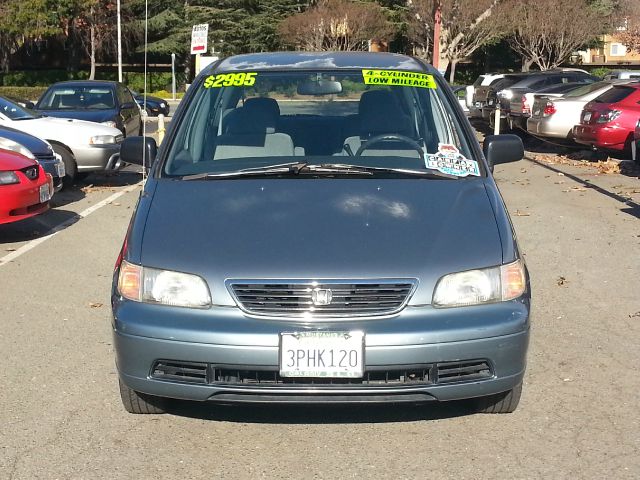
[[[443,420],[476,413],[470,401],[423,404],[224,405],[171,401],[167,413],[199,420],[259,424],[400,423]]]

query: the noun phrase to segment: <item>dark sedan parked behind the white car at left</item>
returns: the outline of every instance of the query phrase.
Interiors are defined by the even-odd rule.
[[[142,134],[140,108],[119,82],[58,82],[42,94],[35,109],[49,117],[102,123],[117,128],[125,137]]]

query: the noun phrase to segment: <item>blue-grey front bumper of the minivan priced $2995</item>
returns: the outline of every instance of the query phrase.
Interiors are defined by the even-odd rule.
[[[161,397],[218,402],[446,401],[510,390],[522,381],[526,366],[528,302],[447,310],[406,307],[385,319],[313,324],[252,318],[230,307],[184,310],[114,300],[116,363],[130,388]],[[364,379],[312,383],[279,378],[279,334],[304,330],[364,331]],[[207,373],[195,383],[158,377],[154,369],[159,361],[197,365]],[[444,381],[437,373],[478,361],[490,372],[453,381]],[[400,381],[367,380],[403,369],[429,373],[418,381],[404,375]]]

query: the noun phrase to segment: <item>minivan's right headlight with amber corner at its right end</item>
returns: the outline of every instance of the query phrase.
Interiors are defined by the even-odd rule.
[[[506,302],[518,298],[525,290],[524,265],[517,260],[499,267],[445,275],[436,285],[433,306],[462,307]]]

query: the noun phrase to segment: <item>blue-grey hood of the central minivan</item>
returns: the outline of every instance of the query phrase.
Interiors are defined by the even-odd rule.
[[[161,180],[140,262],[226,279],[416,278],[429,304],[447,273],[502,263],[483,179]]]

